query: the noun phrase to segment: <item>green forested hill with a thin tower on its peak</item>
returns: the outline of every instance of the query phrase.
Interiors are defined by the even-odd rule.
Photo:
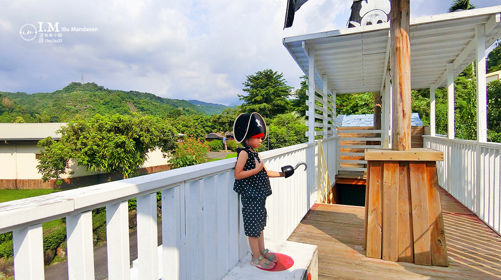
[[[104,88],[96,83],[72,82],[54,92],[1,92],[0,122],[72,120],[76,115],[132,114],[133,112],[165,117],[189,114],[221,113],[224,105],[195,105],[181,99],[170,99],[147,92]]]

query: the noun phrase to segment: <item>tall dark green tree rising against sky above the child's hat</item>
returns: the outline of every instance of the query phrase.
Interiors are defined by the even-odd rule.
[[[258,71],[255,75],[248,75],[243,85],[245,88],[242,90],[247,95],[238,94],[240,100],[244,101],[241,105],[243,112],[255,111],[271,118],[290,111],[291,103],[287,98],[291,95],[292,87],[286,84],[283,73],[272,69]]]

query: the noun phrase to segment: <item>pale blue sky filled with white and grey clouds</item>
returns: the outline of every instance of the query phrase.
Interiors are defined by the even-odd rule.
[[[410,0],[411,18],[445,13],[450,2]],[[299,88],[303,72],[282,39],[346,28],[352,1],[309,0],[284,30],[286,3],[0,0],[0,91],[52,92],[83,75],[109,89],[228,105],[264,69]]]

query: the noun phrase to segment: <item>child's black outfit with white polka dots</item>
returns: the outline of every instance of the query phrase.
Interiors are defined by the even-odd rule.
[[[242,150],[246,151],[248,154],[243,170],[246,171],[256,168],[254,159],[256,158],[260,161],[258,152],[250,149],[250,147],[243,147],[237,149],[238,156]],[[266,226],[266,197],[272,194],[270,178],[265,168],[255,175],[235,180],[233,190],[238,192],[241,197],[245,235],[251,237],[261,236],[261,231],[265,229]]]

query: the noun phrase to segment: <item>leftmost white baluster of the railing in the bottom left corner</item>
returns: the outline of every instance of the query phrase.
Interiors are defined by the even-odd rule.
[[[13,231],[16,279],[44,280],[42,224]]]

